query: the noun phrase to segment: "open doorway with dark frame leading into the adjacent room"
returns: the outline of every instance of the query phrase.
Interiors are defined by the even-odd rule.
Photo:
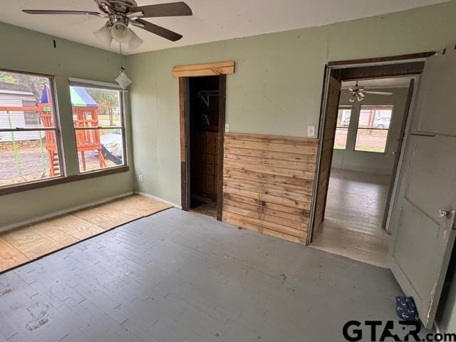
[[[328,71],[311,247],[388,267],[386,229],[423,61]]]

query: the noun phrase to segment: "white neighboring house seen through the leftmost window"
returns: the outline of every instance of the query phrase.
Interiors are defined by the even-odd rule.
[[[0,81],[0,107],[29,107],[35,106],[36,99],[28,88],[8,82]],[[39,113],[31,112],[10,112],[0,111],[0,128],[37,128],[43,127]],[[44,137],[44,133],[41,133]],[[0,132],[0,142],[11,141],[10,132]],[[38,132],[15,132],[14,140],[37,140]]]

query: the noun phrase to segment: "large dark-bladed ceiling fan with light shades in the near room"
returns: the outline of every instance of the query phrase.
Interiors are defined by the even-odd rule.
[[[95,11],[56,11],[40,9],[23,9],[26,14],[81,14],[85,16],[100,16],[107,18],[105,26],[93,34],[108,46],[114,39],[119,43],[128,43],[129,48],[138,48],[142,39],[131,30],[130,24],[146,31],[178,41],[182,35],[155,25],[142,18],[155,18],[159,16],[191,16],[192,9],[185,2],[171,2],[168,4],[155,4],[138,6],[135,0],[93,0],[100,12]]]

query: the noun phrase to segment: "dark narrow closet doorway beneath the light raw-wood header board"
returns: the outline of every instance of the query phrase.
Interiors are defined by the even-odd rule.
[[[180,84],[182,209],[221,219],[226,76]]]

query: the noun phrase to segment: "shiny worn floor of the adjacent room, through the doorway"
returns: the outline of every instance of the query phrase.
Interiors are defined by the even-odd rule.
[[[332,169],[325,219],[311,247],[388,267],[382,222],[389,184],[389,175]]]

